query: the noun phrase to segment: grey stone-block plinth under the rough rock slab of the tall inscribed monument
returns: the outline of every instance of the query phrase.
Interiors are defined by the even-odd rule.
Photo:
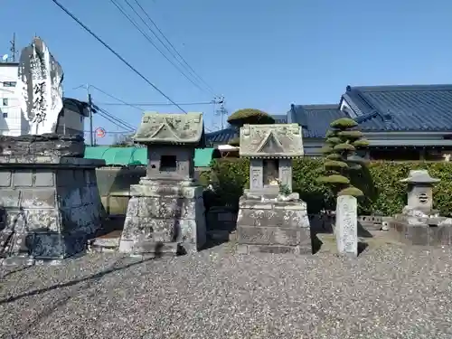
[[[83,250],[103,217],[99,161],[0,160],[0,256],[62,259]]]

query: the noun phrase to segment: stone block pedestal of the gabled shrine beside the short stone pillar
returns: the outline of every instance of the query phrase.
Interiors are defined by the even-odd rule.
[[[261,202],[242,196],[237,242],[240,253],[311,254],[306,202]]]

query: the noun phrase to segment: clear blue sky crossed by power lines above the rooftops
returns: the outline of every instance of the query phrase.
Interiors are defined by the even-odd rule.
[[[116,1],[129,9],[124,0]],[[174,101],[212,100],[211,93],[197,89],[166,61],[110,0],[60,2]],[[337,103],[349,84],[452,82],[450,0],[140,3],[202,79],[224,95],[230,113],[259,108],[284,114],[291,103]],[[0,53],[8,52],[14,32],[20,48],[34,34],[41,36],[63,67],[65,96],[85,99],[86,92],[74,88],[89,83],[130,103],[166,102],[51,0],[1,4]],[[142,24],[139,18],[137,23]],[[139,123],[140,110],[103,105],[114,100],[95,89],[92,95],[118,118]],[[184,108],[204,112],[211,129],[221,126],[212,105]],[[146,110],[178,112],[170,106]],[[94,126],[121,130],[100,117]]]

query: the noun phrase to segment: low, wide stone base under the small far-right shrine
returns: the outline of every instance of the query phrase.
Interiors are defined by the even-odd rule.
[[[402,243],[420,246],[452,245],[450,218],[397,214],[388,223],[394,236]]]

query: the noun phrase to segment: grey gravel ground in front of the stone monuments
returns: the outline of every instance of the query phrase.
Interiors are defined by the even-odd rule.
[[[447,338],[452,252],[88,255],[0,268],[2,338]]]

